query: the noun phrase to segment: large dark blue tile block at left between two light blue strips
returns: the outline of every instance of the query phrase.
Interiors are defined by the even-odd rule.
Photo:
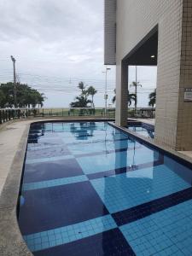
[[[23,235],[108,214],[90,182],[23,192],[19,224]]]

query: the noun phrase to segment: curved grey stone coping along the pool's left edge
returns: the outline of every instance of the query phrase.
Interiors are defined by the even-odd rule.
[[[27,137],[31,122],[20,138],[15,157],[3,185],[0,196],[0,255],[33,255],[20,233],[17,221],[17,207],[20,196],[20,181],[26,157]]]

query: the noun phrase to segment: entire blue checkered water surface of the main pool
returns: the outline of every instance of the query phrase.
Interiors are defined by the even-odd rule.
[[[18,220],[34,255],[192,255],[192,170],[105,122],[36,123]]]

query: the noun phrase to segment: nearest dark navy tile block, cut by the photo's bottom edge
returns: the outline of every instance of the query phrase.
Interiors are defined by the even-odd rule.
[[[119,229],[34,253],[35,256],[131,256],[135,255]]]

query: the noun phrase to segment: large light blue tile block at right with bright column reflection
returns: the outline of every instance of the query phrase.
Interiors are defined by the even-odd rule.
[[[182,177],[164,165],[90,182],[110,213],[136,207],[190,187]]]

